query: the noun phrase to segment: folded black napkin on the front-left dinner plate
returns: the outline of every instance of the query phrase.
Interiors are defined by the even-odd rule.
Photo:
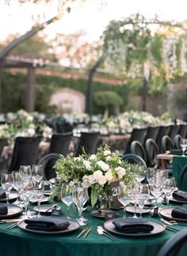
[[[62,231],[70,225],[69,221],[60,217],[41,216],[25,219],[27,229],[37,231]]]

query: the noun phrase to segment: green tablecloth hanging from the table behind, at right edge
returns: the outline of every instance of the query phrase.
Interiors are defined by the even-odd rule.
[[[178,185],[178,176],[181,173],[181,169],[187,165],[187,157],[174,156],[173,157],[173,172],[172,175],[175,177],[176,184]],[[184,176],[181,189],[187,192],[187,173]]]

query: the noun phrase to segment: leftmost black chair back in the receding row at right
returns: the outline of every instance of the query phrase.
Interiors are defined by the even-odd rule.
[[[146,138],[146,134],[147,134],[147,127],[134,128],[132,130],[131,137],[128,141],[128,145],[126,146],[126,149],[124,149],[124,154],[131,153],[131,145],[132,145],[132,142],[134,142],[134,141],[138,141],[138,142],[142,143],[142,145],[143,145],[143,142]]]

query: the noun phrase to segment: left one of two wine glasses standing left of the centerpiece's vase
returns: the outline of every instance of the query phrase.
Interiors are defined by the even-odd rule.
[[[63,183],[60,191],[61,200],[64,204],[67,205],[67,219],[70,219],[70,205],[73,203],[72,189],[72,185]]]

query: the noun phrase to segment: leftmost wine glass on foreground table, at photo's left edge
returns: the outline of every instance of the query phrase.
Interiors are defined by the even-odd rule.
[[[13,188],[13,173],[2,173],[1,184],[6,192],[6,204],[9,204],[10,191]]]

